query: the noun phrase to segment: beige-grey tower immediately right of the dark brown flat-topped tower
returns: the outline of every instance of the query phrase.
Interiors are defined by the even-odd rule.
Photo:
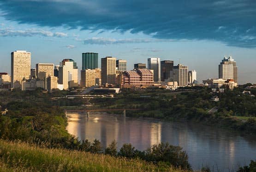
[[[174,66],[173,81],[177,81],[179,86],[188,85],[188,67],[181,64]]]

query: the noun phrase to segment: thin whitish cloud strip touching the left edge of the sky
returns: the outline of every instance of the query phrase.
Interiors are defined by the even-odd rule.
[[[45,37],[66,37],[66,33],[45,31],[42,29],[25,29],[25,30],[14,30],[13,28],[0,29],[0,36],[45,36]]]

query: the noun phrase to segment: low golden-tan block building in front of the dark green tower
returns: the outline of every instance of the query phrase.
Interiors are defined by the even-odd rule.
[[[92,87],[95,85],[101,85],[101,69],[85,69],[81,70],[81,86]]]

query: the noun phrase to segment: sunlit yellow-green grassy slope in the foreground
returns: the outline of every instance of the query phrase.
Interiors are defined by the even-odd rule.
[[[0,140],[0,172],[185,172],[103,154],[48,149],[21,142]]]

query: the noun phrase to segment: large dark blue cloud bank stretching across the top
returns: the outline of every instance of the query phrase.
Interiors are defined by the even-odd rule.
[[[256,35],[256,29],[249,30],[256,26],[255,9],[255,0],[0,0],[2,16],[18,23],[215,40],[240,47],[256,47],[255,39],[241,39]]]

